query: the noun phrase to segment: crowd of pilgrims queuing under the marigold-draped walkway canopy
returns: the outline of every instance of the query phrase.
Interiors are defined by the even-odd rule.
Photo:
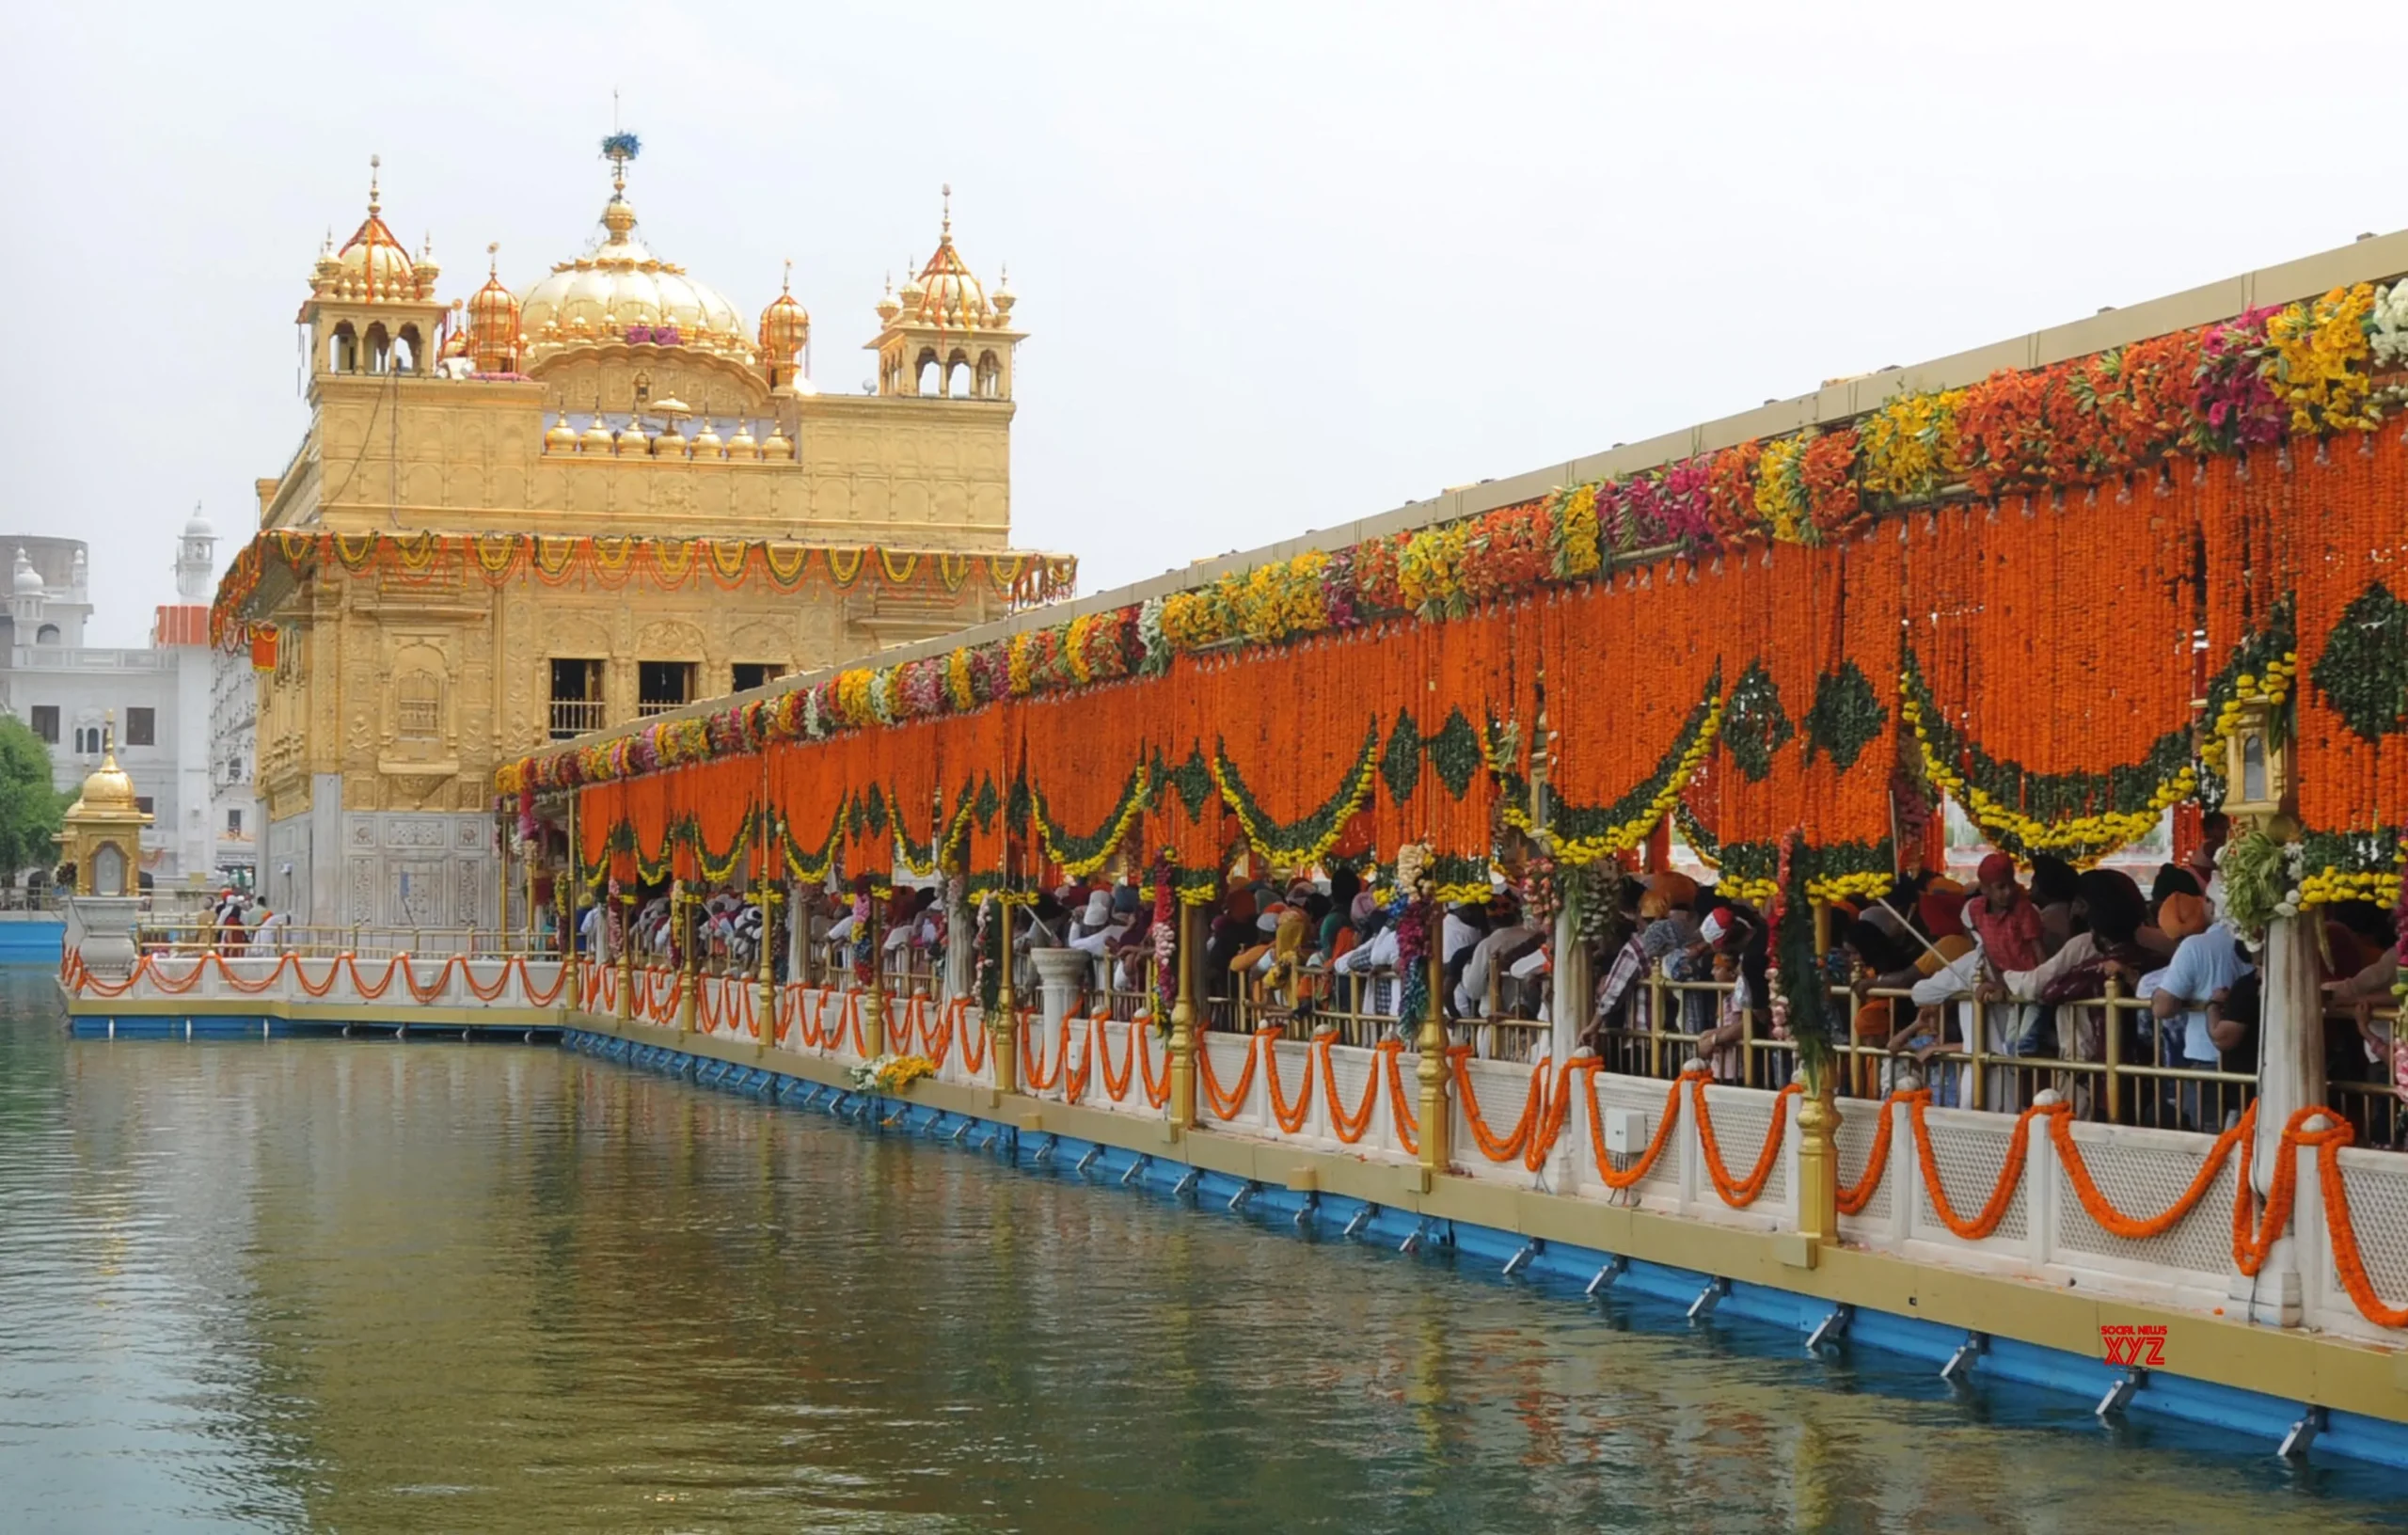
[[[2220,818],[2182,864],[2165,864],[2148,890],[2121,869],[2076,871],[2040,857],[2020,876],[2003,854],[1982,859],[1967,888],[1938,873],[1900,878],[1888,895],[1830,912],[1823,982],[1840,1027],[1857,1054],[1847,1092],[1878,1095],[1910,1073],[1943,1104],[1972,1102],[1970,1030],[1984,1056],[1999,1061],[2107,1061],[2107,1027],[2119,1027],[2121,1063],[2259,1071],[2259,974],[2249,948],[2220,917],[2215,847]],[[1606,912],[1580,924],[1594,991],[1582,1020],[1582,1044],[1616,1071],[1678,1073],[1688,1059],[1717,1080],[1787,1080],[1789,1051],[1763,1051],[1748,1068],[1748,1039],[1780,1039],[1770,1020],[1767,970],[1772,924],[1751,902],[1664,871],[1616,876]],[[869,936],[855,931],[852,897],[843,890],[804,893],[799,917],[824,974],[840,977],[845,960],[867,962]],[[1411,1037],[1418,1020],[1399,1018],[1397,974],[1401,900],[1382,902],[1361,876],[1339,869],[1324,878],[1286,883],[1235,881],[1216,902],[1204,936],[1199,982],[1206,1027],[1252,1027],[1351,1015]],[[951,921],[934,888],[896,888],[879,912],[879,967],[893,977],[927,977],[939,989]],[[1515,888],[1498,881],[1486,902],[1452,905],[1440,934],[1440,1006],[1454,1025],[1498,1018],[1551,1023],[1556,931],[1534,921]],[[595,950],[597,914],[580,929]],[[636,912],[636,953],[681,962],[669,900]],[[703,902],[698,941],[715,965],[751,972],[763,936],[761,907],[737,893]],[[783,946],[780,946],[783,948]],[[1067,883],[1035,897],[1014,917],[1014,986],[1035,998],[1028,955],[1072,948],[1093,958],[1091,1003],[1108,994],[1153,991],[1153,897],[1127,881]],[[2396,977],[2389,914],[2372,902],[2324,907],[2316,950],[2333,1023],[2326,1027],[2331,1080],[2382,1080],[2389,1023],[2374,1006]],[[785,955],[773,950],[785,979]],[[1657,986],[1654,982],[1674,986]],[[2109,994],[2146,1003],[2109,1013],[2093,1003]],[[1657,1011],[1666,1015],[1659,1020]],[[1676,1051],[1645,1051],[1635,1042],[1662,1030]],[[2044,1085],[2071,1087],[2085,1114],[2102,1112],[2090,1078],[2052,1083],[2049,1073],[1984,1066],[1982,1107],[2018,1109]],[[2126,1085],[2126,1092],[2141,1092]],[[2213,1092],[2213,1083],[2165,1080],[2146,1090],[2126,1116],[2150,1124],[2215,1128],[2247,1102],[2247,1087]]]

